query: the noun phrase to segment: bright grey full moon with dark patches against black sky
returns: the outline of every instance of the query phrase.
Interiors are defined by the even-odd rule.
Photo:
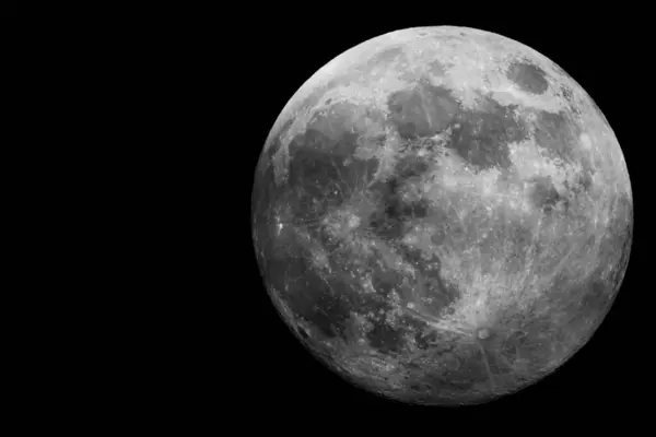
[[[632,243],[624,156],[530,47],[391,32],[330,60],[271,122],[258,264],[291,332],[352,385],[485,402],[558,369],[609,311]]]

